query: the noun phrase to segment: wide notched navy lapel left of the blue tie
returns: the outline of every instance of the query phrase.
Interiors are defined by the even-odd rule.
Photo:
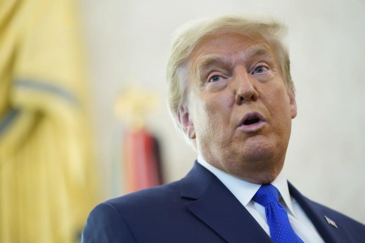
[[[181,196],[196,199],[185,206],[229,243],[272,243],[235,196],[210,171],[195,162],[181,181]]]

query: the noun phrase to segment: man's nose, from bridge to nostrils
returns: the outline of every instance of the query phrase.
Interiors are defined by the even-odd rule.
[[[247,73],[246,69],[240,68],[235,75],[236,103],[241,105],[249,101],[256,101],[258,93],[253,85],[253,78]]]

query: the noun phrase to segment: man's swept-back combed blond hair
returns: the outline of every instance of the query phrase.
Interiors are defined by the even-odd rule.
[[[260,36],[261,40],[262,38],[266,40],[276,56],[287,89],[294,89],[290,75],[289,52],[282,41],[286,32],[284,24],[273,18],[264,20],[243,16],[221,16],[214,19],[193,20],[174,32],[166,70],[168,108],[176,128],[181,132],[183,130],[178,120],[178,111],[188,102],[189,70],[187,64],[190,55],[196,45],[207,36],[227,32],[243,34],[251,38]],[[185,136],[185,138],[187,137]]]

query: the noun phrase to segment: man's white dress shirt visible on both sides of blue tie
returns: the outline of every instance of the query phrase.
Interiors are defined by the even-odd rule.
[[[206,162],[200,155],[197,161],[200,165],[211,171],[238,199],[239,202],[249,211],[254,219],[260,224],[265,232],[270,236],[269,225],[265,216],[265,207],[253,201],[252,198],[260,188],[260,184],[250,183],[234,177]],[[298,202],[289,194],[288,182],[285,177],[284,169],[278,174],[271,183],[280,192],[280,204],[283,205],[288,213],[290,224],[294,232],[305,243],[324,243],[311,220],[301,209]]]

